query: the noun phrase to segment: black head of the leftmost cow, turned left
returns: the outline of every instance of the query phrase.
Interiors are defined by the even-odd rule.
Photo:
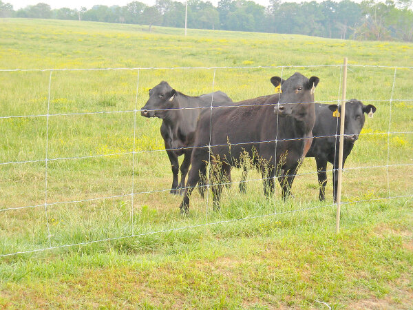
[[[142,109],[140,115],[145,117],[165,118],[170,109],[176,108],[176,90],[165,81],[149,90],[149,99]]]

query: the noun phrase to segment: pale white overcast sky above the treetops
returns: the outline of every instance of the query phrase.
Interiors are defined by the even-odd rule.
[[[61,1],[61,0],[2,0],[3,2],[8,2],[12,4],[14,10],[18,10],[19,8],[25,8],[26,6],[34,6],[39,2],[49,4],[52,9],[54,8],[81,8],[85,6],[87,9],[92,8],[96,4],[101,4],[103,6],[125,6],[127,3],[132,2],[133,0],[71,0],[71,1]],[[156,0],[138,0],[143,2],[149,6],[153,6]],[[185,0],[176,0],[181,1],[182,3]],[[206,1],[206,0],[203,0]],[[214,6],[217,6],[219,0],[209,0],[213,3]],[[259,3],[262,6],[268,6],[270,3],[269,0],[253,0],[255,3]],[[293,1],[293,0],[289,0]],[[298,2],[298,1],[297,1]]]

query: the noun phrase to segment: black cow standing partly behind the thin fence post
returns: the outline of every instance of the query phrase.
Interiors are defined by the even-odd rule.
[[[327,162],[333,165],[332,167],[332,179],[334,202],[337,200],[337,183],[339,169],[339,138],[336,138],[337,134],[340,134],[340,118],[333,116],[333,112],[338,111],[341,113],[341,106],[337,105],[325,105],[315,104],[315,125],[313,128],[313,144],[310,150],[306,154],[306,157],[315,157],[317,163],[317,175],[320,185],[319,200],[324,200],[325,190],[327,184]],[[344,141],[343,141],[343,166],[346,162],[347,156],[350,154],[354,147],[354,142],[359,138],[361,129],[364,125],[364,113],[376,112],[374,105],[363,105],[361,101],[352,99],[346,102],[346,120],[344,122]],[[370,114],[370,115],[372,115]],[[319,138],[317,138],[319,137]]]

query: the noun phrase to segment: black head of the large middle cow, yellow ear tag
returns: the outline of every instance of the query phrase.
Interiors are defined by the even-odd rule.
[[[319,83],[317,76],[307,79],[306,76],[295,72],[286,81],[277,76],[271,78],[271,82],[273,81],[281,83],[282,90],[279,102],[274,107],[275,114],[301,119],[308,114],[309,109],[314,108],[314,90]]]

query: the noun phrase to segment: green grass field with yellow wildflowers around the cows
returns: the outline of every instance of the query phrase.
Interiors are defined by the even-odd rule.
[[[356,65],[413,67],[413,44],[182,32],[0,20],[0,255],[57,247],[0,258],[0,305],[411,309],[412,198],[385,198],[412,195],[413,69]],[[286,203],[279,187],[264,198],[251,173],[247,194],[224,189],[222,211],[193,192],[189,216],[180,215],[160,120],[135,120],[151,87],[165,80],[184,94],[222,90],[240,101],[298,71],[319,76],[317,101],[337,102],[344,56],[347,98],[377,112],[346,163],[338,236],[331,173],[319,203],[313,158]],[[274,68],[248,68],[257,66]],[[231,69],[215,79],[213,69],[49,70],[182,67]]]

